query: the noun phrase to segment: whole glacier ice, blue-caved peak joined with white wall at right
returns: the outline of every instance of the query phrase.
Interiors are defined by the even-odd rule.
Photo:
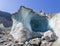
[[[40,14],[32,9],[21,6],[18,12],[12,15],[13,25],[10,34],[19,43],[34,37],[40,37],[41,32],[53,30],[58,36],[58,40],[53,44],[60,45],[60,13],[50,16],[49,14]],[[56,45],[55,45],[56,44]]]

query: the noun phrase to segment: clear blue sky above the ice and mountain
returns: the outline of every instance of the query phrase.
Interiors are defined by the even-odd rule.
[[[36,12],[40,10],[45,13],[60,12],[60,0],[0,0],[0,11],[15,13],[20,6],[31,8]]]

